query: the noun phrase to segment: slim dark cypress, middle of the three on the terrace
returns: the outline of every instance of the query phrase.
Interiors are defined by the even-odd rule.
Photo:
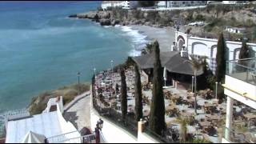
[[[138,71],[138,66],[134,66],[135,70],[135,115],[136,120],[139,121],[143,117],[142,106],[142,82],[141,75]]]

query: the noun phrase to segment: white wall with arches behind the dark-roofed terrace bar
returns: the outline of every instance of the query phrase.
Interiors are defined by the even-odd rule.
[[[175,47],[176,51],[181,51],[182,46],[185,46],[189,54],[198,56],[206,56],[210,69],[214,72],[216,68],[216,54],[218,39],[213,38],[199,38],[190,34],[184,34],[182,32],[175,32]],[[246,43],[256,51],[256,43]],[[226,47],[229,51],[228,60],[238,59],[239,51],[242,47],[242,42],[226,41]]]

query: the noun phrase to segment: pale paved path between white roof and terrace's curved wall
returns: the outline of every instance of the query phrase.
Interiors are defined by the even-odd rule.
[[[83,127],[90,128],[90,94],[88,96],[86,94],[74,99],[72,105],[65,106],[64,118],[72,122],[78,130]]]

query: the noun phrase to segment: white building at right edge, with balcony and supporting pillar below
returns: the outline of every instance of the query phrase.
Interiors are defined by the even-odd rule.
[[[256,143],[256,131],[252,122],[256,121],[256,58],[242,60],[246,66],[238,64],[238,61],[229,61],[226,70],[224,93],[227,95],[226,105],[226,127],[222,143]],[[250,107],[250,113],[244,114],[248,129],[246,132],[238,133],[234,130],[234,102],[241,102]]]

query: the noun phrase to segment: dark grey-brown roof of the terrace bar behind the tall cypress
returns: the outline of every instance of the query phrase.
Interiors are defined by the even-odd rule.
[[[177,51],[167,51],[160,53],[160,59],[162,67],[166,67],[166,70],[177,74],[194,75],[193,66],[190,64],[187,58],[182,58]],[[154,68],[154,54],[144,54],[142,56],[134,57],[134,62],[141,69]],[[198,70],[197,75],[201,75],[202,70]]]

